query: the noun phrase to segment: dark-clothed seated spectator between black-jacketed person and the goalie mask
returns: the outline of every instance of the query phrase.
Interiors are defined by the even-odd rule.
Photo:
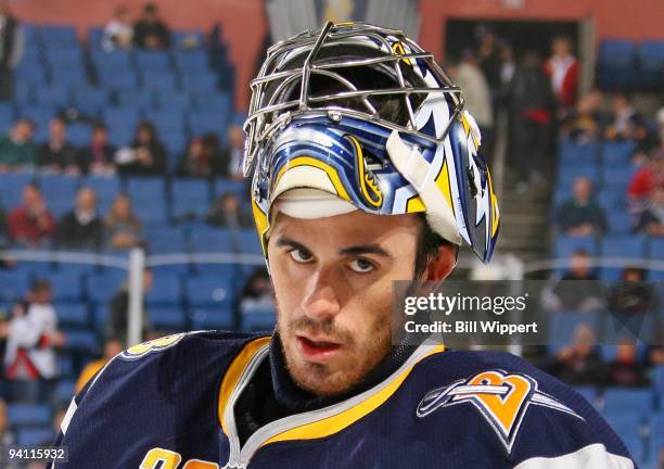
[[[217,136],[206,134],[203,137],[193,138],[180,160],[177,174],[178,176],[202,178],[227,176],[228,168],[221,164]]]

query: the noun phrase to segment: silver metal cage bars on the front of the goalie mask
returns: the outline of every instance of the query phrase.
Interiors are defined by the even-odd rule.
[[[386,40],[387,35],[396,37],[398,41],[408,46],[414,52],[395,53]],[[331,62],[331,58],[318,60],[320,51],[324,46],[357,45],[358,37],[376,42],[376,46],[385,49],[378,51],[376,48],[376,53],[386,55],[353,58],[336,62]],[[302,56],[307,51],[308,54],[302,66],[276,72],[280,65],[285,64],[288,66],[290,60]],[[435,75],[436,83],[443,84],[439,88],[429,87],[421,77],[416,77],[418,79],[417,86],[407,83],[401,64],[410,63],[412,65],[409,66],[420,66],[417,61],[426,62],[429,71]],[[359,90],[350,80],[335,72],[340,68],[359,66],[380,68],[382,73],[394,79],[395,87]],[[343,86],[347,91],[317,97],[310,96],[310,79],[312,75],[330,78]],[[413,76],[414,73],[411,72],[410,75]],[[297,85],[299,85],[298,97],[286,100],[285,97],[289,96],[289,91],[295,89]],[[337,28],[330,22],[320,33],[305,31],[292,39],[272,46],[268,50],[268,56],[263,64],[258,77],[251,83],[251,88],[250,115],[244,124],[244,130],[247,134],[243,162],[245,177],[251,175],[255,166],[254,160],[256,155],[261,151],[273,132],[286,125],[293,117],[304,113],[311,113],[314,115],[334,114],[339,118],[345,115],[367,119],[399,132],[411,134],[435,143],[442,143],[451,128],[451,123],[458,118],[463,110],[461,90],[451,83],[447,74],[435,63],[433,54],[422,51],[417,43],[404,37],[401,31],[369,25],[353,25],[350,27],[344,26]],[[438,138],[418,131],[414,117],[416,110],[410,100],[412,94],[422,94],[424,98],[431,94],[439,94],[443,99],[444,96],[451,97],[455,107],[446,129]],[[371,98],[381,96],[403,96],[408,113],[408,123],[406,125],[393,123],[379,115],[371,102]],[[359,99],[366,112],[343,107],[335,103],[335,101],[339,102],[339,100],[343,99]],[[424,99],[421,100],[420,105],[423,102]],[[316,104],[316,106],[311,104]],[[267,170],[263,166],[265,165],[259,164],[261,173]]]

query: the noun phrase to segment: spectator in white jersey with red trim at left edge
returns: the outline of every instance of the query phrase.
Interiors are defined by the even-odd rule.
[[[58,376],[55,348],[66,343],[65,334],[58,330],[52,296],[51,284],[36,280],[25,314],[17,314],[9,324],[4,365],[16,400],[43,402],[51,395]]]

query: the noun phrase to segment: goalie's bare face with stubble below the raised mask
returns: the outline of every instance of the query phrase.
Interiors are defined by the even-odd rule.
[[[420,229],[414,215],[277,216],[268,258],[278,330],[301,388],[339,394],[388,353],[392,281],[412,279]]]

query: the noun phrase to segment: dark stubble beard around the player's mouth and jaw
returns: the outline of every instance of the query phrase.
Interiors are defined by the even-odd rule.
[[[279,332],[283,344],[283,354],[289,373],[299,388],[312,394],[333,396],[347,392],[358,384],[392,350],[391,309],[373,316],[374,319],[370,328],[369,339],[366,343],[357,343],[355,337],[347,330],[337,328],[333,319],[317,321],[307,316],[289,321],[285,333],[291,333],[291,335],[286,338],[280,327],[281,321],[279,319],[283,315],[281,314],[279,301],[276,301],[276,306],[278,317],[277,332]],[[350,354],[350,356],[344,357],[342,363],[342,365],[347,367],[347,370],[334,370],[334,377],[330,379],[330,370],[325,364],[305,363],[304,367],[296,366],[293,358],[289,356],[289,348],[284,343],[284,339],[293,340],[292,331],[322,333],[343,343],[344,352]],[[308,379],[302,376],[303,372],[307,373]],[[324,390],[311,384],[311,382],[320,383],[321,381],[324,381]]]

